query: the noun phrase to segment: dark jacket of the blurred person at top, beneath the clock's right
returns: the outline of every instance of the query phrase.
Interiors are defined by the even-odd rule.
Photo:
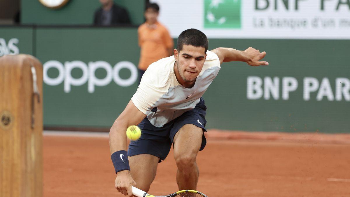
[[[111,25],[118,25],[118,24],[130,24],[130,18],[128,11],[124,9],[123,7],[117,6],[113,4],[112,6],[112,21]],[[102,10],[103,8],[97,9],[94,15],[93,24],[94,25],[102,25]]]

